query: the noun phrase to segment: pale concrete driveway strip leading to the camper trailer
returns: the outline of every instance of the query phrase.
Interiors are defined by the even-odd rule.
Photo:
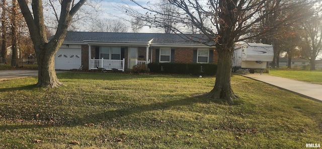
[[[282,77],[274,77],[265,74],[261,75],[259,73],[246,73],[243,76],[297,93],[306,98],[322,102],[322,85]]]

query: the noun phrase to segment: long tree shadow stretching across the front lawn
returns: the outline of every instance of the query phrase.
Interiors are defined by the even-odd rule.
[[[7,125],[0,125],[0,130],[14,130],[14,129],[26,129],[26,128],[47,128],[47,127],[64,127],[64,126],[84,126],[84,124],[98,124],[102,123],[103,121],[105,122],[111,122],[115,119],[119,119],[122,117],[131,117],[133,115],[141,114],[144,112],[153,112],[153,111],[159,111],[159,110],[168,110],[172,108],[182,108],[182,106],[189,106],[189,105],[194,105],[197,103],[201,104],[210,104],[210,103],[218,103],[217,101],[214,101],[212,99],[207,98],[204,95],[198,95],[198,96],[193,96],[193,97],[188,97],[188,98],[183,98],[179,100],[170,100],[170,101],[165,101],[165,102],[157,102],[157,103],[151,103],[151,104],[145,104],[145,105],[130,105],[128,103],[115,103],[119,104],[115,110],[101,110],[99,111],[100,113],[93,113],[93,114],[88,114],[88,115],[79,115],[79,116],[72,116],[69,117],[69,119],[60,119],[61,123],[53,124],[53,125],[38,125],[36,123],[30,123],[30,124],[12,124],[8,123]],[[221,103],[218,103],[221,104]],[[111,103],[113,105],[113,103]],[[94,111],[92,111],[94,112]],[[59,117],[67,117],[67,115],[62,114],[64,113],[63,111],[56,113],[56,116]],[[71,115],[69,115],[71,116]],[[134,118],[133,117],[133,118]],[[32,121],[32,117],[25,117],[26,121]],[[22,117],[24,119],[24,117]],[[45,119],[42,119],[46,121]],[[122,122],[122,120],[120,121]],[[127,122],[122,122],[122,123],[127,123]]]

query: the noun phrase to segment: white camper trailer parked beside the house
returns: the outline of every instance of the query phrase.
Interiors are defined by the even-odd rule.
[[[232,57],[232,72],[238,69],[265,69],[268,62],[273,61],[273,46],[262,43],[243,43],[234,48]]]

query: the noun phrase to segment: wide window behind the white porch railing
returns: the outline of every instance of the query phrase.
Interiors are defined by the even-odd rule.
[[[101,47],[101,57],[104,59],[121,59],[120,47]]]

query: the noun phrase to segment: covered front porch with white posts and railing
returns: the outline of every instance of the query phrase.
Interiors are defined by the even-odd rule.
[[[87,41],[89,69],[125,71],[137,64],[148,64],[149,42],[102,43]]]

